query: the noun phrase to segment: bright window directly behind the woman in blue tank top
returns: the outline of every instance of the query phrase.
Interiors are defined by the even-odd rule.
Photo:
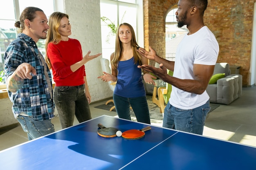
[[[101,45],[102,57],[110,60],[110,55],[115,51],[116,34],[111,33],[108,24],[114,24],[115,28],[120,23],[127,22],[135,30],[135,36],[139,46],[144,47],[143,34],[143,6],[142,0],[101,0]]]

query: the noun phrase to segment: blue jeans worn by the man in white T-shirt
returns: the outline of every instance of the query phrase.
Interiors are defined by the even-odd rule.
[[[202,135],[204,121],[211,107],[209,100],[198,108],[183,110],[169,102],[164,109],[163,127]]]

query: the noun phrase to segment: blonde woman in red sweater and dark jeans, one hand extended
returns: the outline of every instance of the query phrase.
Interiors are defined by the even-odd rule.
[[[69,38],[71,25],[68,15],[54,12],[49,17],[46,39],[46,62],[52,68],[55,82],[54,102],[62,128],[73,125],[74,116],[81,123],[91,119],[89,93],[84,64],[99,55],[83,57],[81,44]]]

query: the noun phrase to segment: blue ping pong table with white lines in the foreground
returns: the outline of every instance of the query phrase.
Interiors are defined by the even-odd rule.
[[[0,170],[256,170],[256,148],[151,125],[141,139],[104,138],[148,124],[100,116],[0,152]]]

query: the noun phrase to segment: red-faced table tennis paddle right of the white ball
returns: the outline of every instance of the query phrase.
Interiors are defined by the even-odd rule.
[[[140,130],[137,130],[137,129],[126,130],[122,133],[122,137],[125,139],[140,139],[145,136],[145,131],[150,129],[151,127],[147,126],[146,128],[142,128]]]

